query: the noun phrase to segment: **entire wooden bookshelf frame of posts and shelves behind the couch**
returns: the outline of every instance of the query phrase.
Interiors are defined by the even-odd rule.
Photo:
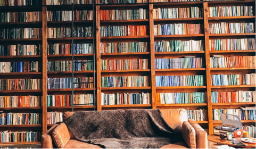
[[[99,1],[96,1],[98,3]],[[158,107],[164,108],[168,106],[184,106],[184,107],[205,107],[205,109],[208,110],[208,121],[197,121],[197,123],[203,123],[204,125],[208,125],[209,128],[209,133],[212,134],[212,128],[213,128],[213,123],[219,123],[219,121],[213,121],[212,120],[212,106],[216,107],[218,105],[253,105],[255,103],[211,103],[211,92],[214,89],[218,90],[225,90],[226,88],[230,90],[236,90],[237,88],[249,88],[250,90],[253,90],[255,85],[238,85],[238,86],[211,86],[211,72],[214,72],[216,70],[241,70],[241,71],[247,71],[250,70],[252,71],[254,68],[210,68],[210,54],[214,53],[219,53],[219,54],[247,54],[247,55],[255,55],[255,49],[253,50],[240,50],[240,51],[209,51],[209,39],[227,39],[227,38],[255,38],[255,33],[249,33],[249,34],[209,34],[209,22],[214,22],[214,21],[236,21],[237,19],[239,20],[245,20],[245,19],[250,19],[254,20],[255,22],[255,16],[231,16],[231,17],[208,17],[208,7],[209,6],[215,6],[218,4],[221,5],[234,5],[233,3],[246,3],[246,4],[254,4],[255,5],[255,0],[245,0],[245,1],[210,1],[210,2],[175,2],[175,3],[152,3],[152,0],[149,1],[149,3],[143,3],[143,4],[98,4],[96,5],[96,89],[97,89],[97,110],[108,110],[114,107],[115,109],[118,109],[119,107],[142,107],[142,108],[152,108],[156,109]],[[165,6],[171,6],[171,7],[182,7],[182,5],[196,5],[199,4],[200,7],[202,7],[203,10],[203,17],[202,18],[178,18],[178,19],[153,19],[153,9],[154,7],[165,7]],[[40,126],[35,126],[35,127],[42,127],[43,133],[46,132],[47,127],[49,128],[50,126],[53,125],[47,125],[47,110],[66,110],[70,109],[70,106],[47,106],[46,105],[46,96],[48,94],[55,94],[57,92],[58,94],[61,92],[63,94],[66,94],[65,92],[70,92],[71,89],[47,89],[47,75],[55,75],[55,74],[60,74],[60,75],[65,75],[71,73],[70,71],[68,72],[47,72],[47,61],[53,60],[53,59],[68,59],[71,57],[71,54],[66,54],[66,55],[47,55],[47,44],[49,43],[67,43],[71,42],[71,38],[47,38],[47,24],[49,26],[55,26],[55,25],[60,25],[60,24],[68,24],[71,23],[71,21],[53,21],[53,22],[47,22],[46,21],[46,12],[49,10],[54,10],[54,7],[57,7],[56,9],[65,9],[65,8],[70,8],[71,5],[51,5],[51,6],[46,6],[45,5],[45,0],[43,0],[43,5],[42,6],[8,6],[8,7],[1,7],[1,9],[4,9],[4,11],[7,11],[8,9],[11,9],[12,11],[15,11],[15,9],[18,9],[18,11],[26,11],[27,9],[32,9],[32,10],[42,10],[42,22],[15,22],[13,24],[29,24],[31,25],[40,25],[42,24],[42,31],[43,31],[43,36],[42,38],[32,38],[32,39],[0,39],[0,42],[7,42],[7,43],[42,43],[43,45],[43,52],[42,55],[17,55],[17,56],[0,56],[0,59],[40,59],[38,61],[42,61],[42,72],[30,72],[30,73],[0,73],[0,76],[3,75],[11,75],[11,76],[20,76],[20,74],[27,75],[27,74],[42,74],[42,89],[38,90],[0,90],[0,93],[6,93],[6,94],[12,94],[12,93],[22,93],[22,94],[28,94],[28,93],[33,93],[33,94],[42,94],[43,98],[43,104],[42,107],[6,107],[6,108],[0,108],[0,110],[42,110],[42,125]],[[82,7],[85,6],[85,9],[88,10],[92,5],[76,5],[77,8],[81,9]],[[110,21],[103,21],[100,20],[100,9],[103,7],[104,9],[119,9],[120,7],[125,8],[127,7],[128,9],[132,9],[133,6],[136,7],[143,7],[144,9],[148,10],[148,19],[144,20],[110,20]],[[48,9],[48,10],[47,10]],[[161,36],[154,36],[154,22],[166,22],[166,23],[175,23],[175,22],[201,22],[204,24],[204,32],[203,34],[196,34],[196,35],[161,35]],[[82,23],[93,23],[92,21],[75,21],[75,24],[82,24]],[[142,23],[146,24],[148,23],[149,27],[149,32],[147,36],[115,36],[115,37],[100,37],[100,27],[105,26],[106,24],[110,23]],[[11,23],[0,23],[0,26],[6,26]],[[167,38],[167,39],[166,39]],[[154,42],[155,40],[189,40],[189,39],[204,39],[204,51],[189,51],[189,52],[155,52],[154,51]],[[75,41],[77,42],[90,42],[92,41],[93,37],[76,37],[74,38]],[[129,42],[129,41],[134,40],[139,40],[139,41],[145,41],[148,43],[148,52],[138,52],[138,53],[101,53],[101,42]],[[155,69],[155,57],[161,57],[161,56],[186,56],[186,55],[200,55],[205,58],[205,63],[206,66],[205,68],[201,69]],[[74,54],[74,57],[76,59],[79,59],[80,57],[92,57],[93,54]],[[101,70],[101,59],[102,57],[108,58],[108,57],[114,57],[114,56],[122,56],[122,57],[139,57],[139,56],[148,56],[147,59],[150,59],[148,61],[148,68],[147,70],[108,70],[108,71],[102,71]],[[128,58],[127,58],[128,59]],[[155,86],[155,73],[175,73],[175,71],[182,71],[182,72],[188,72],[188,73],[201,73],[203,72],[206,76],[206,84],[205,86],[184,86],[184,87],[156,87]],[[80,75],[82,73],[92,73],[93,71],[75,71],[76,75]],[[108,73],[147,73],[148,76],[150,76],[151,80],[151,86],[149,87],[101,87],[101,75],[102,74],[108,74]],[[232,73],[232,72],[230,72]],[[76,92],[84,92],[88,91],[91,92],[93,89],[92,88],[75,88],[74,89]],[[145,105],[101,105],[101,92],[133,92],[134,90],[147,90],[147,92],[152,93],[152,104],[145,104]],[[208,103],[202,103],[202,104],[157,104],[156,103],[156,97],[155,94],[156,92],[173,92],[172,90],[179,91],[179,92],[186,92],[186,90],[204,90],[204,92],[207,92],[207,102]],[[191,91],[189,91],[191,92]],[[201,92],[201,91],[200,91]],[[75,109],[92,109],[93,106],[88,105],[88,106],[74,106]],[[242,122],[253,122],[253,120],[243,120]],[[27,144],[27,143],[34,143],[34,142],[22,142],[22,143],[13,143],[13,144]],[[35,144],[40,142],[35,142]],[[0,143],[2,144],[2,143]],[[7,144],[12,144],[12,143],[7,143]]]

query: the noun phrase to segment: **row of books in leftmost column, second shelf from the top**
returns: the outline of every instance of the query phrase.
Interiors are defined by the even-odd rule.
[[[42,21],[42,12],[1,12],[0,22],[36,22]]]

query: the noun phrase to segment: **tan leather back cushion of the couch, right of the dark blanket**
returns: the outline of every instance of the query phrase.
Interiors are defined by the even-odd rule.
[[[185,109],[160,109],[160,111],[168,125],[175,132],[181,133],[182,123],[187,121],[187,111]]]

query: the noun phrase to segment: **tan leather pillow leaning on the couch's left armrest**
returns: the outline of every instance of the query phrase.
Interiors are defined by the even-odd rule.
[[[69,130],[65,123],[61,123],[57,126],[52,133],[55,145],[58,148],[63,148],[69,142]]]

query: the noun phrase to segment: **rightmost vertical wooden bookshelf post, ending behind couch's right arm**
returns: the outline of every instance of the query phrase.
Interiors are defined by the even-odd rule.
[[[208,24],[208,3],[203,3],[204,20],[204,44],[205,44],[205,69],[207,82],[207,105],[208,105],[208,127],[209,134],[213,134],[212,124],[212,103],[211,103],[211,70],[210,70],[210,49],[209,49],[209,24]]]

